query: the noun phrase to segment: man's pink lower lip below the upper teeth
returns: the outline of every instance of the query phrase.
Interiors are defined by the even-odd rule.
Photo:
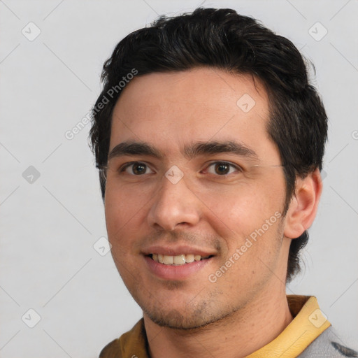
[[[190,262],[190,264],[164,265],[154,261],[148,256],[145,256],[144,258],[149,270],[157,277],[162,278],[164,280],[184,280],[190,275],[201,270],[201,268],[206,266],[206,264],[208,264],[211,259],[213,259],[212,257],[210,257],[210,259],[194,261]]]

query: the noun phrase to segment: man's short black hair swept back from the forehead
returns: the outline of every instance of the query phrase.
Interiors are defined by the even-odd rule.
[[[107,164],[113,108],[127,83],[124,80],[130,78],[129,73],[143,76],[199,66],[249,74],[264,84],[270,110],[267,131],[278,147],[285,172],[285,214],[296,178],[322,170],[327,115],[310,84],[307,60],[294,44],[229,8],[196,8],[176,17],[162,15],[150,27],[123,38],[103,65],[103,90],[92,108],[90,130],[103,201],[106,178],[101,170]],[[307,241],[307,231],[292,240],[287,282],[301,269],[299,252]]]

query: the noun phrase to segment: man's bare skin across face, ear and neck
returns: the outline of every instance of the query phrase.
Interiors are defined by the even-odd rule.
[[[243,94],[255,106],[236,105]],[[310,227],[322,191],[319,171],[298,179],[285,217],[253,242],[216,282],[215,273],[255,229],[285,203],[280,155],[268,137],[268,96],[259,80],[218,69],[196,68],[136,77],[113,112],[110,151],[124,141],[145,141],[163,159],[145,155],[108,162],[105,210],[112,255],[129,292],[143,309],[151,357],[245,357],[278,336],[292,321],[285,294],[289,244]],[[187,159],[192,142],[240,141],[257,159],[232,153]],[[140,161],[148,168],[135,175]],[[215,161],[243,166],[226,178]],[[208,163],[209,162],[209,163]],[[164,176],[176,165],[176,184]],[[257,165],[257,166],[255,166]],[[138,173],[138,172],[136,172]],[[163,280],[143,256],[148,245],[184,243],[215,256],[183,280]]]

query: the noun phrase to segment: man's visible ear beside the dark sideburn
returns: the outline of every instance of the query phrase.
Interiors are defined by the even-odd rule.
[[[292,196],[285,217],[284,235],[287,238],[298,238],[311,226],[317,213],[322,186],[318,168],[306,178],[296,180],[295,194]]]

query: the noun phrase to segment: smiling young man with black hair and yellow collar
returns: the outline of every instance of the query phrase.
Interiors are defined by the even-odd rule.
[[[143,309],[109,357],[358,357],[287,296],[327,115],[294,45],[231,9],[161,17],[103,68],[91,140],[117,269]]]

